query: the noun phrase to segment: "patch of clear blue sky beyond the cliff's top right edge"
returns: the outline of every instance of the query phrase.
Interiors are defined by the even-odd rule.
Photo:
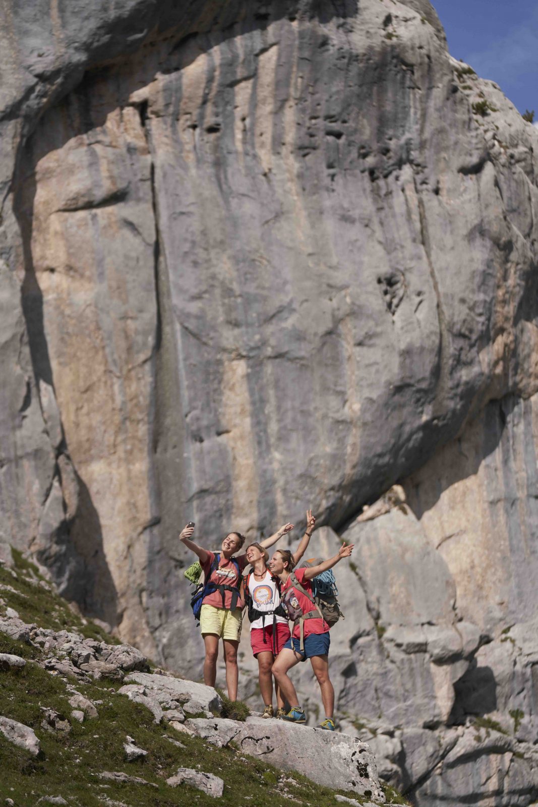
[[[538,119],[537,0],[432,0],[448,49]]]

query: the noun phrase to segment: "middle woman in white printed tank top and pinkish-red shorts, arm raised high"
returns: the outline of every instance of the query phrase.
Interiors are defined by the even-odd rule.
[[[315,517],[307,510],[307,529],[297,550],[292,555],[294,563],[307,551],[308,542],[315,528]],[[290,638],[290,626],[286,612],[280,604],[280,581],[267,569],[269,553],[261,544],[251,544],[247,549],[247,560],[252,571],[244,580],[244,600],[250,620],[250,644],[258,662],[258,676],[261,697],[264,701],[262,717],[274,717],[273,713],[273,674],[271,667],[277,655]],[[280,688],[277,692],[277,717],[286,714]]]

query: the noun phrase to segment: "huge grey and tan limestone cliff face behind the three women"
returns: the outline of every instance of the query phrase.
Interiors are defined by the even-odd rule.
[[[178,530],[311,505],[320,551],[357,542],[340,714],[420,804],[483,795],[477,754],[491,804],[528,804],[523,751],[461,725],[520,709],[538,738],[534,650],[503,641],[538,617],[536,129],[427,0],[19,6],[0,541],[194,674]]]

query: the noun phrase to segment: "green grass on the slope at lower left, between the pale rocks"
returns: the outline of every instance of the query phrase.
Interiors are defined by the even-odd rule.
[[[21,619],[40,627],[68,629],[86,637],[115,642],[97,625],[74,614],[64,600],[40,584],[35,568],[19,556],[16,561],[16,578],[9,570],[0,568],[0,598],[6,604],[0,607],[0,615],[10,606]],[[0,734],[2,804],[6,798],[11,798],[17,807],[33,807],[40,797],[61,796],[73,807],[98,807],[113,802],[128,807],[193,804],[290,807],[290,802],[294,803],[292,799],[310,807],[340,805],[335,792],[299,774],[283,773],[234,748],[218,749],[200,738],[179,733],[165,723],[155,725],[148,709],[116,694],[121,686],[116,681],[101,679],[84,684],[70,680],[69,683],[98,709],[97,718],[86,717],[79,723],[71,718],[67,680],[32,663],[32,659],[43,656],[39,648],[0,633],[0,653],[13,653],[27,659],[21,671],[0,671],[0,715],[31,726],[42,749],[40,757],[32,757]],[[69,733],[44,730],[41,725],[44,709],[56,709],[66,717],[71,723]],[[123,743],[127,734],[135,739],[137,746],[148,751],[144,760],[126,761]],[[170,738],[181,742],[183,747],[174,745]],[[187,785],[170,787],[165,780],[173,776],[178,767],[193,767],[220,776],[225,783],[223,797],[215,800]],[[102,771],[123,771],[156,787],[104,782],[99,779]],[[355,794],[347,795],[361,801]],[[387,801],[407,804],[394,792],[387,792]]]

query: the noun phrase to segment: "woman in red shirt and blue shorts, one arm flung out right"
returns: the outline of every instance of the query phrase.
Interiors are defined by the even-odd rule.
[[[276,550],[269,565],[273,575],[281,581],[281,598],[288,610],[294,614],[294,631],[292,637],[286,642],[283,650],[278,654],[273,664],[273,675],[279,685],[282,696],[290,704],[283,720],[292,723],[306,723],[307,717],[304,709],[298,704],[297,692],[288,675],[291,667],[300,661],[310,659],[312,670],[321,689],[321,698],[325,709],[325,720],[320,724],[322,729],[335,730],[333,712],[335,707],[335,691],[329,678],[329,626],[323,619],[312,596],[311,580],[322,571],[332,569],[342,558],[348,558],[352,553],[354,544],[340,546],[340,550],[333,557],[306,569],[294,571],[294,558],[288,550]]]

